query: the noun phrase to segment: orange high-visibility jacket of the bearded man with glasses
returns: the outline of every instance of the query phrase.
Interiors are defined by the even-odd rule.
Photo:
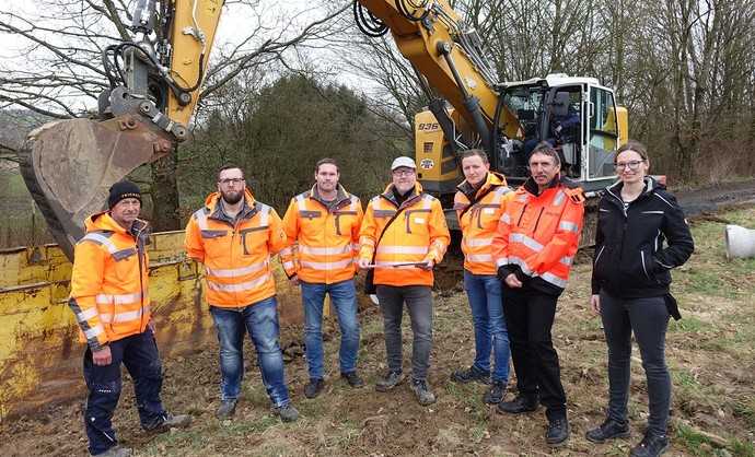
[[[244,198],[244,209],[230,221],[220,192],[210,194],[186,226],[186,253],[205,265],[210,306],[243,307],[276,294],[270,256],[286,246],[286,233],[276,210],[248,189]]]

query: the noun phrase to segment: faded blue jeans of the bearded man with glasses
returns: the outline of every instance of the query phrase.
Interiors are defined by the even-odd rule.
[[[239,398],[244,377],[244,333],[257,350],[257,365],[267,395],[276,407],[289,403],[283,354],[278,340],[278,302],[275,296],[240,308],[210,306],[220,342],[220,394],[223,400]]]

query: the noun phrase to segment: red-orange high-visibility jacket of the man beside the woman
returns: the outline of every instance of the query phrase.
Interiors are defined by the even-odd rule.
[[[556,177],[537,195],[537,184],[527,179],[507,203],[498,224],[492,241],[496,266],[539,278],[562,291],[579,246],[583,203],[582,189],[570,180]]]

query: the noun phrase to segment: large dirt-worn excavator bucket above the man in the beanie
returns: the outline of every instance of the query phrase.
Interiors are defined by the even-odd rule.
[[[73,259],[84,219],[105,208],[109,187],[173,145],[138,116],[59,120],[28,134],[19,153],[21,174],[50,233]]]

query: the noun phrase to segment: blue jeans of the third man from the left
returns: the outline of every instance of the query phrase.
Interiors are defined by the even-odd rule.
[[[359,321],[357,320],[357,291],[353,279],[334,284],[300,281],[304,305],[304,344],[310,378],[323,379],[323,303],[325,294],[330,294],[330,303],[338,314],[340,326],[340,350],[338,361],[341,373],[357,371],[359,351]]]

